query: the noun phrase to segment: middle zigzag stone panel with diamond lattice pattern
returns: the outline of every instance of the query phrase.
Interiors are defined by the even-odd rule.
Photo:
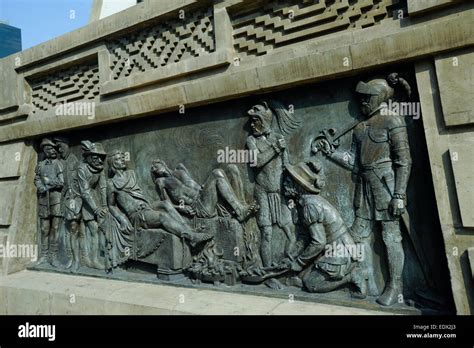
[[[185,13],[110,42],[112,78],[145,72],[215,51],[212,8]]]

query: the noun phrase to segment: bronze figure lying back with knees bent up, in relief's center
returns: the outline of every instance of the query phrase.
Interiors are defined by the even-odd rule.
[[[212,218],[217,215],[218,200],[222,197],[233,209],[237,220],[243,222],[256,210],[256,206],[247,205],[238,198],[243,195],[238,168],[229,165],[228,172],[226,174],[222,169],[214,169],[201,186],[182,163],[171,170],[164,161],[157,159],[151,166],[151,176],[161,200],[171,202],[179,212],[199,218]],[[240,190],[239,195],[231,183]]]

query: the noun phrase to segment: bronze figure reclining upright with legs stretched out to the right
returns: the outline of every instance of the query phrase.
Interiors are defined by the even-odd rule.
[[[107,201],[110,212],[121,225],[121,230],[161,228],[187,240],[191,246],[212,239],[208,233],[197,233],[168,201],[157,202],[152,209],[137,183],[133,170],[127,170],[125,155],[113,151],[108,159],[110,180]]]

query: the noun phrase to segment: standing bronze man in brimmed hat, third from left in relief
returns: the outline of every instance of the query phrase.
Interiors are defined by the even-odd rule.
[[[107,182],[104,161],[107,157],[102,144],[82,141],[83,162],[77,167],[77,188],[81,197],[82,218],[88,231],[88,243],[81,249],[82,259],[88,267],[104,269],[100,259],[101,238],[99,219],[106,216]]]

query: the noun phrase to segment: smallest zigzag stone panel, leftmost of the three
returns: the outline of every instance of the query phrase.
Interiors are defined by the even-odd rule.
[[[83,64],[30,81],[34,112],[47,111],[58,104],[94,100],[99,94],[97,63]]]

